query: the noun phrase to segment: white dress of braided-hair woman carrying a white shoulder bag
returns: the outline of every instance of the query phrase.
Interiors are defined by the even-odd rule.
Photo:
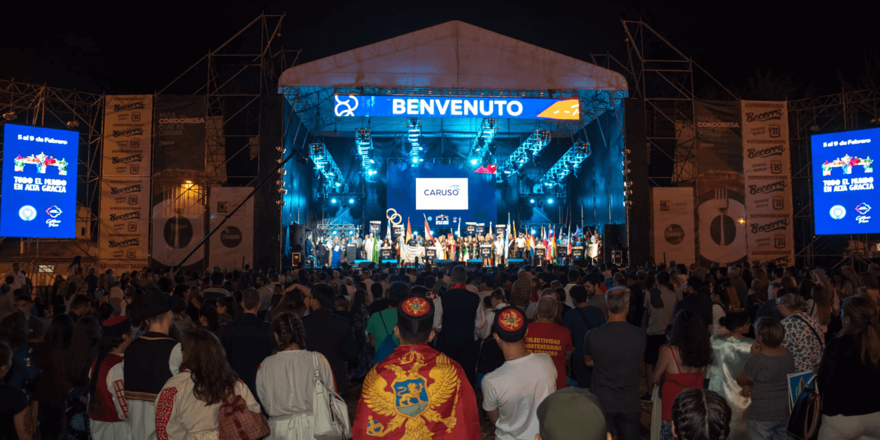
[[[333,371],[324,355],[307,350],[268,356],[257,370],[257,395],[269,414],[270,440],[312,440],[315,367],[324,385],[336,389]]]

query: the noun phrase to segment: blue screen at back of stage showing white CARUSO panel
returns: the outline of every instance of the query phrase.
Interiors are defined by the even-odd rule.
[[[473,172],[466,165],[388,165],[387,208],[395,209],[407,224],[420,229],[455,228],[460,221],[488,222],[498,216],[495,174]],[[433,231],[433,230],[432,230]]]

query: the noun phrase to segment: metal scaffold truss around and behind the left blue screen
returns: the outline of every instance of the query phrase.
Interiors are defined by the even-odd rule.
[[[21,261],[22,268],[31,274],[34,284],[38,282],[34,274],[42,275],[37,270],[38,264],[70,261],[77,254],[83,257],[84,265],[98,258],[96,238],[103,103],[104,97],[96,93],[0,80],[0,114],[8,115],[0,119],[0,124],[18,123],[79,132],[77,238],[0,237],[0,246],[19,245],[17,255],[0,253],[0,260]],[[2,147],[3,139],[0,138],[0,150],[3,150]],[[0,164],[2,160],[0,156]],[[59,244],[72,244],[76,247]],[[66,269],[65,265],[58,270]]]

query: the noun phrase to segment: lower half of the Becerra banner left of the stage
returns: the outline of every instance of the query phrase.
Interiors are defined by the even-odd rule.
[[[99,258],[143,260],[149,255],[150,178],[102,178]]]

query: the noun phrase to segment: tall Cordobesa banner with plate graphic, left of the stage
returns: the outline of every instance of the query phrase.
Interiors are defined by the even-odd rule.
[[[159,95],[155,106],[151,250],[153,260],[174,266],[204,238],[207,104],[204,96]],[[203,251],[184,268],[201,266]]]

